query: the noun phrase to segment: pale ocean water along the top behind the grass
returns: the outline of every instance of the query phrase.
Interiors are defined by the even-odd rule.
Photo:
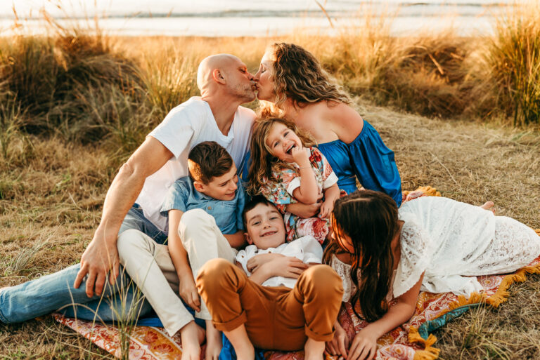
[[[366,15],[391,19],[394,35],[453,27],[491,32],[494,17],[515,0],[0,0],[0,34],[44,31],[43,9],[61,24],[94,22],[109,34],[271,36],[299,28],[335,34]],[[321,9],[323,7],[324,11]],[[18,20],[15,22],[15,13]],[[14,27],[17,23],[22,26]]]

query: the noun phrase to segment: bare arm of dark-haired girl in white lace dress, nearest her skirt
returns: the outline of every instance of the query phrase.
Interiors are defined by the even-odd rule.
[[[369,324],[354,336],[347,360],[373,359],[377,350],[378,338],[411,319],[416,309],[423,277],[424,274],[409,291],[399,296],[397,303],[392,305],[383,317]]]

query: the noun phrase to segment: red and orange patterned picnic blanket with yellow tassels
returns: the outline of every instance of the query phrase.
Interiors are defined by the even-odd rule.
[[[420,196],[440,196],[432,187],[419,187],[413,192],[404,192],[404,201],[410,201]],[[540,235],[540,230],[536,230]],[[470,298],[453,293],[420,292],[416,303],[416,312],[407,322],[387,333],[378,340],[377,360],[434,360],[439,356],[439,349],[432,345],[437,338],[430,333],[460,316],[471,307],[482,303],[497,307],[508,298],[508,287],[514,282],[527,279],[527,274],[540,273],[540,256],[529,266],[519,269],[514,274],[479,276],[478,280],[484,287],[484,293],[475,293]],[[102,349],[118,358],[125,358],[129,339],[129,359],[169,360],[181,356],[180,335],[167,335],[163,328],[152,326],[134,326],[129,332],[121,331],[117,326],[98,324],[92,321],[82,321],[54,314],[56,321],[69,326],[94,342]],[[347,334],[352,337],[367,325],[358,319],[352,311],[350,303],[346,303],[339,315]],[[202,352],[204,354],[204,351]],[[303,360],[303,352],[266,352],[268,360]],[[332,356],[328,356],[332,358]]]

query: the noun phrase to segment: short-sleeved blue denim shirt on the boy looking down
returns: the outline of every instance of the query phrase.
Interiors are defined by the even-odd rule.
[[[242,211],[245,204],[244,188],[238,181],[238,189],[232,200],[217,200],[198,192],[189,176],[179,178],[169,187],[169,192],[161,207],[161,215],[167,216],[169,210],[186,212],[200,208],[212,215],[222,234],[234,234],[243,230]]]

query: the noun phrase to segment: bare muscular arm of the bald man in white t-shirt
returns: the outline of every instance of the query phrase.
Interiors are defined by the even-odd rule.
[[[101,222],[94,233],[94,238],[81,257],[81,269],[75,279],[75,288],[79,288],[84,276],[86,279],[86,295],[101,295],[109,269],[110,284],[115,284],[118,276],[117,234],[125,215],[141,192],[144,180],[158,171],[171,157],[172,152],[161,142],[148,136],[143,144],[131,154],[120,168],[111,183],[105,203]]]

